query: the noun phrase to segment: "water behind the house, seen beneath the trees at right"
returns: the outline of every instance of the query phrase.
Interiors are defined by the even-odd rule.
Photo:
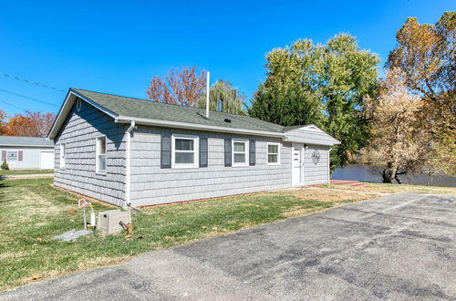
[[[369,171],[365,165],[348,165],[337,168],[331,177],[334,180],[354,180],[361,182],[381,182],[381,176]],[[399,179],[404,184],[456,187],[456,177],[447,175],[404,174]]]

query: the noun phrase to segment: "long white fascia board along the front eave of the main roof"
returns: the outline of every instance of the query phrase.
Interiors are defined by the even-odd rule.
[[[187,122],[176,122],[176,121],[158,120],[158,119],[140,119],[140,118],[135,118],[135,117],[130,117],[130,116],[119,116],[116,118],[116,122],[119,122],[119,123],[130,123],[133,120],[136,121],[137,124],[155,125],[155,126],[167,127],[167,128],[177,128],[177,129],[186,129],[186,130],[206,130],[206,131],[236,133],[236,134],[264,136],[264,137],[278,137],[278,138],[282,138],[285,136],[284,133],[275,132],[275,131],[223,128],[223,127],[202,125],[202,124],[196,124],[196,123],[187,123]]]

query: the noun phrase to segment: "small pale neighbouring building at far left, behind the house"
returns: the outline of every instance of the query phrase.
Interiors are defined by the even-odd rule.
[[[54,143],[46,138],[0,136],[0,150],[11,170],[54,168]]]

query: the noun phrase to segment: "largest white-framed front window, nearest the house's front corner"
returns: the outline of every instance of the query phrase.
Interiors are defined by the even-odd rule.
[[[198,137],[172,136],[172,167],[198,167]]]

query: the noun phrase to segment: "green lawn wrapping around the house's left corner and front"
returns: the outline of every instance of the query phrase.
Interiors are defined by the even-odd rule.
[[[0,181],[0,291],[59,275],[119,264],[131,256],[228,234],[287,217],[372,198],[331,189],[264,192],[145,208],[133,234],[93,234],[70,243],[53,236],[82,228],[77,197],[52,179]],[[110,207],[95,204],[95,211]]]

